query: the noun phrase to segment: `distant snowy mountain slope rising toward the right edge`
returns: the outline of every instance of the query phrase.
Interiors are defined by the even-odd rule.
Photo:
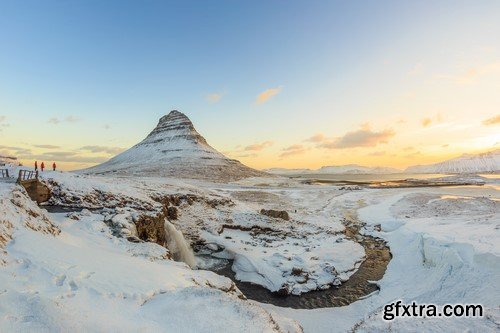
[[[410,166],[411,173],[477,173],[500,171],[500,149],[482,154],[464,154],[440,163]]]

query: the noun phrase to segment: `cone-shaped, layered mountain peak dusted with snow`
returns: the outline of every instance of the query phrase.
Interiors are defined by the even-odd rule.
[[[140,143],[82,173],[180,177],[232,181],[265,176],[229,159],[201,136],[183,113],[173,110]]]

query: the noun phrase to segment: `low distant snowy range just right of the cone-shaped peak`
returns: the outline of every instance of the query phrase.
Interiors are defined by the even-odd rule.
[[[356,174],[391,174],[399,173],[401,170],[389,168],[389,167],[366,167],[358,164],[347,164],[347,165],[330,165],[323,166],[316,170],[311,169],[285,169],[285,168],[272,168],[264,170],[271,174],[276,175],[303,175],[303,174],[346,174],[346,175],[356,175]]]

